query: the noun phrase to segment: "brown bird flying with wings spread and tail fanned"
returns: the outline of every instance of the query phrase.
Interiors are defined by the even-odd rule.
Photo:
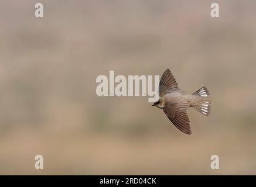
[[[178,83],[167,69],[159,83],[159,100],[153,103],[163,109],[169,120],[183,133],[191,134],[187,108],[193,107],[205,116],[210,115],[211,99],[208,89],[203,86],[196,92],[188,94],[178,88]]]

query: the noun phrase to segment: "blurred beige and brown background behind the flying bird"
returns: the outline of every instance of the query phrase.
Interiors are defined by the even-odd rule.
[[[36,2],[0,2],[0,174],[255,174],[255,1],[214,1],[220,18],[213,1],[42,0],[44,18]],[[145,96],[95,93],[110,70],[166,68],[211,93],[191,136]]]

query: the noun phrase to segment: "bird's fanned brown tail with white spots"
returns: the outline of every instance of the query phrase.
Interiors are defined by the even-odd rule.
[[[202,88],[194,92],[193,95],[199,96],[199,105],[195,106],[194,109],[196,109],[203,115],[209,116],[211,110],[211,99],[208,89],[203,86]]]

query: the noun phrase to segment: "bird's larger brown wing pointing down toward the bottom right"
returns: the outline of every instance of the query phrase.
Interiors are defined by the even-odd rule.
[[[169,120],[183,133],[191,134],[189,117],[187,117],[188,102],[183,103],[165,103],[163,112]]]

